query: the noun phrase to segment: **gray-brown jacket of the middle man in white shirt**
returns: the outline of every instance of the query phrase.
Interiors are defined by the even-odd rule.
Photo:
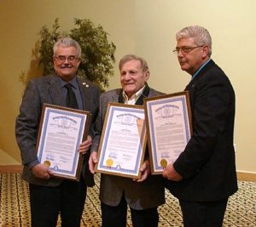
[[[104,116],[109,102],[119,103],[121,89],[115,89],[101,94],[100,113],[96,119],[96,128],[102,131]],[[150,88],[148,97],[160,95],[159,92]],[[96,136],[91,150],[97,150],[100,136]],[[143,183],[137,183],[132,179],[101,175],[100,200],[109,205],[117,206],[125,194],[125,200],[130,207],[136,210],[143,210],[157,207],[165,203],[165,191],[161,176],[149,176]]]

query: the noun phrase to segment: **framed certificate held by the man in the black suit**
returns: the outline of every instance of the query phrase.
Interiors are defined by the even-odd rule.
[[[189,93],[144,99],[148,150],[152,174],[176,161],[192,133]]]

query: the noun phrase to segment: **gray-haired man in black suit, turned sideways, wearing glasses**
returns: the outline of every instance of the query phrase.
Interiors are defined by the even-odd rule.
[[[237,190],[233,146],[235,93],[210,59],[207,29],[189,26],[177,32],[173,52],[192,79],[189,91],[193,134],[177,161],[164,170],[166,187],[177,196],[185,227],[222,226],[230,195]]]

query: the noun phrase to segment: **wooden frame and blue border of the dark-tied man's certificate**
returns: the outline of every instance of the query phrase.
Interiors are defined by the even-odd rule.
[[[89,132],[90,125],[90,113],[87,111],[74,110],[67,107],[62,107],[58,105],[43,105],[41,122],[40,122],[40,130],[38,133],[38,141],[37,141],[37,150],[38,150],[38,161],[42,163],[42,156],[44,152],[44,141],[46,137],[49,115],[50,113],[60,114],[61,116],[75,116],[79,117],[81,120],[79,126],[79,138],[77,139],[77,144],[75,148],[75,155],[73,158],[73,167],[72,170],[65,169],[55,169],[54,167],[49,167],[54,171],[55,177],[64,178],[64,179],[73,179],[79,180],[81,167],[83,163],[83,156],[79,154],[77,150],[79,150],[80,142],[87,137]]]

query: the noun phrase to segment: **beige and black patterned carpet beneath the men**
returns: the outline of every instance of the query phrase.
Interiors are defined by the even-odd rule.
[[[0,176],[0,226],[30,226],[26,182],[20,179],[19,173],[2,173]],[[96,186],[88,190],[81,226],[101,226],[98,191],[99,175],[96,174]],[[168,191],[166,191],[166,204],[159,207],[159,213],[159,226],[183,226],[177,199]],[[57,226],[61,226],[60,220]],[[132,226],[130,213],[127,226]],[[238,192],[230,197],[223,226],[256,226],[256,182],[239,182]]]

